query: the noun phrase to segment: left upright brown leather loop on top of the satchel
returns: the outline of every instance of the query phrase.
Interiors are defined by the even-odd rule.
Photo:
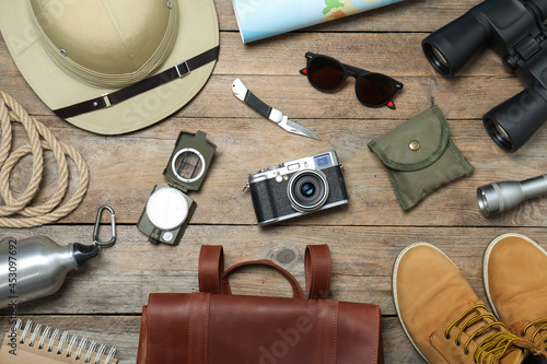
[[[199,292],[220,294],[220,275],[224,272],[222,245],[202,245],[199,253]]]

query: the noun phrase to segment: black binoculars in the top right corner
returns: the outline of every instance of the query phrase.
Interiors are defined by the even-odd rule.
[[[547,120],[547,0],[486,0],[422,40],[429,62],[453,77],[482,46],[502,58],[525,90],[482,117],[493,141],[521,148]]]

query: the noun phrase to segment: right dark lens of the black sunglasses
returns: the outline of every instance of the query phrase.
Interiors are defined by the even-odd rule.
[[[357,84],[357,97],[366,105],[381,106],[395,94],[395,84],[387,75],[369,73]]]

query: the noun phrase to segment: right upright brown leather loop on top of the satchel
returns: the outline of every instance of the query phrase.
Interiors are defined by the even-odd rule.
[[[309,300],[328,300],[330,289],[330,250],[328,245],[306,246],[305,280]]]

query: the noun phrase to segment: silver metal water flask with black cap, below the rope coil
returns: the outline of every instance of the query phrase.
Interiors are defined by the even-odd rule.
[[[46,236],[0,240],[0,310],[50,295],[67,273],[98,255],[100,247],[79,243],[60,246]]]

